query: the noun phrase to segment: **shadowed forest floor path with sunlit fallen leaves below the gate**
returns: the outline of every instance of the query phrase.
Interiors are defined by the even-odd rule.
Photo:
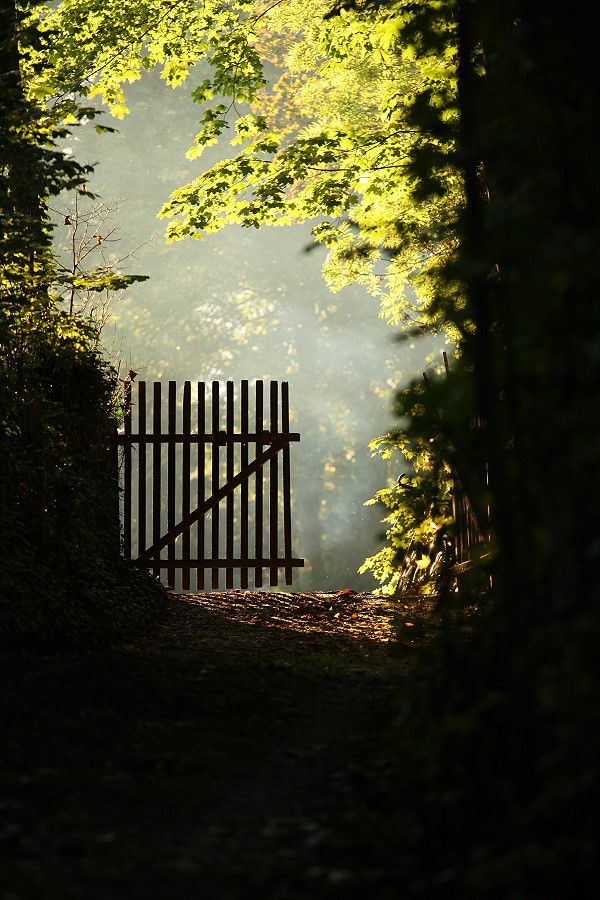
[[[398,646],[430,610],[176,594],[122,647],[5,654],[0,900],[396,897]]]

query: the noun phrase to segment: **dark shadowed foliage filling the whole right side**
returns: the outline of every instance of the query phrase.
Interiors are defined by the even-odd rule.
[[[432,8],[413,5],[410,27],[419,52],[439,54]],[[600,359],[597,263],[584,250],[598,240],[594,89],[572,9],[479,0],[455,11],[465,206],[435,303],[461,356],[402,412],[412,441],[437,427],[473,504],[490,506],[493,588],[467,632],[442,598],[447,627],[406,692],[397,802],[413,810],[398,823],[408,893],[585,893],[598,875],[589,466]],[[426,107],[414,113],[435,132]],[[427,176],[426,155],[417,161]]]

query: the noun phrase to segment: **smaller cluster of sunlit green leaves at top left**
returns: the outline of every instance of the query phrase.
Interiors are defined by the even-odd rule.
[[[254,5],[136,0],[124,9],[119,0],[67,0],[45,8],[31,90],[61,103],[70,91],[85,92],[123,118],[129,112],[123,84],[160,66],[161,77],[176,87],[208,57],[214,79],[198,89],[197,98],[214,91],[240,99],[241,91],[252,93],[263,84],[256,53],[239,27]]]

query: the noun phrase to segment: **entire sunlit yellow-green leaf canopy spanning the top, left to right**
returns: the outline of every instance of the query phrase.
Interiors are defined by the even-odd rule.
[[[44,10],[44,65],[33,83],[60,102],[76,87],[122,117],[122,85],[144,70],[161,67],[175,86],[198,60],[210,64],[211,77],[192,91],[203,110],[188,156],[229,130],[241,149],[173,193],[162,211],[173,219],[170,239],[228,223],[319,219],[313,233],[329,250],[333,290],[358,281],[392,324],[416,314],[421,325],[449,326],[433,297],[439,267],[455,251],[462,202],[453,4],[431,7],[432,53],[420,47],[417,13],[401,2],[341,18],[326,16],[325,0],[167,8],[137,0],[126,15],[115,3]],[[277,74],[269,89],[266,63]]]

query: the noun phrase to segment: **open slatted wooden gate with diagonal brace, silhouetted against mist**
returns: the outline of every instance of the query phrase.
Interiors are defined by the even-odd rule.
[[[166,569],[168,587],[180,572],[184,591],[208,580],[218,589],[222,570],[226,588],[247,588],[250,570],[262,587],[264,569],[271,586],[280,569],[291,584],[304,565],[292,551],[290,443],[300,435],[289,430],[287,382],[271,381],[266,399],[262,381],[252,391],[248,381],[186,381],[181,392],[169,381],[166,403],[161,382],[126,382],[124,552],[156,575]]]

